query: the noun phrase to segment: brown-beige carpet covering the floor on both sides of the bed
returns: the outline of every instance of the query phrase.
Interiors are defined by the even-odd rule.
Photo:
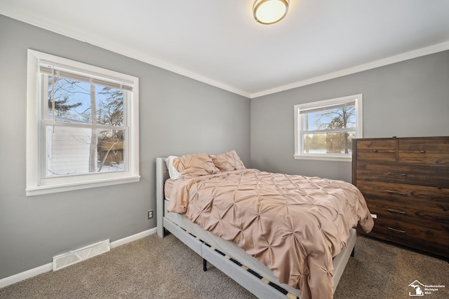
[[[0,288],[0,298],[255,298],[208,267],[203,272],[201,258],[173,235],[154,234]],[[418,298],[449,298],[446,260],[359,236],[334,298],[417,298],[409,295],[415,280],[445,286]]]

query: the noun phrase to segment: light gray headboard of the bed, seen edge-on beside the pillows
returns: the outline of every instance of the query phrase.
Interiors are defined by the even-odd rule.
[[[164,236],[163,232],[163,183],[169,179],[166,158],[156,158],[156,225],[159,237]]]

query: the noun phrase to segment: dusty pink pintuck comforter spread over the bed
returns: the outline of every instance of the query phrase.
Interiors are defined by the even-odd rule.
[[[239,245],[302,298],[333,298],[332,258],[373,219],[350,183],[241,169],[179,179],[168,211]]]

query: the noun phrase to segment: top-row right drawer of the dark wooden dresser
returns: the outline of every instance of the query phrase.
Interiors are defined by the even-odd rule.
[[[449,166],[449,138],[399,139],[398,162]]]

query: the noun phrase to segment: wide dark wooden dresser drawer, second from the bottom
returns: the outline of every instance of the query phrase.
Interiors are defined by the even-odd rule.
[[[366,198],[366,204],[368,204],[370,212],[376,214],[379,219],[390,218],[449,232],[449,211],[447,209],[372,198]]]

